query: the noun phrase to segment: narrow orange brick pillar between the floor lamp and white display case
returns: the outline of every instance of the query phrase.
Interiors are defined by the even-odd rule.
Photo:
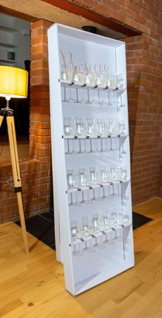
[[[31,33],[30,155],[39,161],[38,186],[41,196],[45,196],[45,202],[40,203],[40,210],[49,208],[51,174],[47,50],[47,29],[50,25],[45,20],[34,22]]]

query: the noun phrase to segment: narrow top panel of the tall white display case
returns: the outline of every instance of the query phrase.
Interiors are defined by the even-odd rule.
[[[66,36],[71,36],[73,38],[78,38],[84,41],[90,41],[100,45],[108,45],[115,48],[121,47],[123,45],[125,46],[125,42],[123,41],[115,40],[114,38],[108,38],[106,36],[101,36],[98,34],[93,34],[84,30],[76,29],[74,27],[69,27],[69,25],[62,25],[58,23],[54,23],[53,25],[51,25],[48,29],[48,33],[56,29],[58,30],[58,34],[64,34]]]

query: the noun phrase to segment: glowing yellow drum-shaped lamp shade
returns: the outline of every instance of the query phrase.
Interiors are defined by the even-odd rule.
[[[0,96],[27,97],[28,73],[17,67],[0,66]]]

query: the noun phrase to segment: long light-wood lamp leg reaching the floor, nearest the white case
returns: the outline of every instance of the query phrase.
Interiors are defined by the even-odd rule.
[[[8,138],[10,144],[10,155],[11,155],[11,162],[12,162],[12,173],[14,178],[14,190],[17,196],[17,202],[19,207],[19,216],[21,220],[21,229],[23,234],[23,242],[25,247],[25,253],[29,253],[29,248],[27,245],[27,233],[25,227],[25,218],[23,212],[23,200],[22,200],[22,187],[21,187],[21,175],[20,175],[20,168],[19,168],[19,157],[17,151],[17,143],[16,143],[16,133],[15,133],[15,126],[14,126],[14,116],[12,112],[8,112],[6,114],[7,118],[7,125],[8,125]],[[1,120],[1,116],[0,116]],[[1,121],[0,121],[1,124]]]

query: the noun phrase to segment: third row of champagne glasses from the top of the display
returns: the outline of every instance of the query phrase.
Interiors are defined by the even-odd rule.
[[[121,182],[127,179],[128,175],[126,167],[121,168],[114,165],[67,170],[68,190],[79,190],[73,192],[74,200],[73,195],[71,194],[70,204],[90,204],[93,203],[93,201],[102,201],[104,198],[109,199],[114,198],[115,196],[121,196]],[[120,182],[114,185],[116,181]],[[96,185],[100,186],[95,187]],[[110,190],[110,185],[112,191]],[[105,188],[108,188],[109,190],[107,191]],[[93,190],[93,199],[90,199],[89,189]],[[82,200],[80,200],[80,190],[82,190]]]

